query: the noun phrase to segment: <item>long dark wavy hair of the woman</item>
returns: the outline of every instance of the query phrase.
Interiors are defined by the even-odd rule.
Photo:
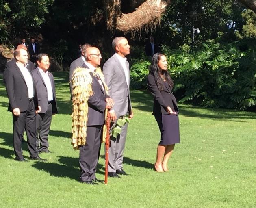
[[[161,54],[161,53],[154,54],[154,56],[152,57],[152,62],[149,66],[150,74],[152,74],[154,76],[154,79],[155,79],[155,82],[156,82],[156,85],[157,85],[159,91],[163,91],[163,89],[165,88],[165,86],[163,85],[163,80],[160,76],[161,69],[158,67],[158,62],[159,62],[161,56],[165,56],[165,55]],[[167,70],[162,70],[162,73],[163,73],[163,76],[164,76],[166,82],[171,87],[174,87],[174,82],[172,81],[169,72]]]

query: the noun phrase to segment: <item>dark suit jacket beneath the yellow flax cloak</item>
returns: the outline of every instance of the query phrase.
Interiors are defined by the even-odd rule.
[[[87,65],[82,65],[83,68],[89,70]],[[105,122],[105,108],[106,108],[106,95],[105,90],[102,89],[99,81],[93,74],[92,76],[92,91],[93,95],[88,99],[88,121],[87,126],[103,125]]]

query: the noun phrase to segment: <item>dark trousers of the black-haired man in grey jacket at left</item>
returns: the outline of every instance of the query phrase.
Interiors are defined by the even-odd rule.
[[[46,113],[38,113],[36,117],[37,149],[48,151],[48,134],[52,122],[52,104],[48,104]]]

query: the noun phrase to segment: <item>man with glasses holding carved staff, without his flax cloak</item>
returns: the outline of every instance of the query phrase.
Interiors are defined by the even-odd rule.
[[[99,49],[90,47],[84,53],[86,61],[82,67],[90,70],[93,95],[88,99],[86,144],[79,147],[80,182],[94,185],[98,184],[95,182],[103,182],[96,178],[95,172],[100,154],[102,127],[105,122],[104,111],[106,108],[111,109],[114,102],[106,95],[104,83],[95,72],[102,58]]]

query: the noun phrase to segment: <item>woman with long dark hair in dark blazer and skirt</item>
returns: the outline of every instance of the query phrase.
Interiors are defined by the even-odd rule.
[[[153,115],[161,132],[157,147],[155,169],[168,171],[167,163],[176,143],[180,143],[178,106],[171,92],[174,82],[167,71],[164,54],[156,53],[149,67],[148,88],[154,96]]]

